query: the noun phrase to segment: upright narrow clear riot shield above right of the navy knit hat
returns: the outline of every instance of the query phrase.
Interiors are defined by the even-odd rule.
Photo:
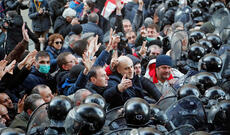
[[[182,51],[188,48],[188,33],[187,31],[179,30],[172,34],[171,37],[171,57],[173,66],[177,65],[177,61],[181,60]]]

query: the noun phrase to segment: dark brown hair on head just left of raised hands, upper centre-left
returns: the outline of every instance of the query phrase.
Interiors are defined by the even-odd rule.
[[[88,42],[86,40],[78,40],[73,44],[73,51],[78,55],[82,56],[82,54],[87,49]]]

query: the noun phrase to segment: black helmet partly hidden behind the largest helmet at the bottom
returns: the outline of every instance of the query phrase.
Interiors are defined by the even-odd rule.
[[[101,106],[103,109],[106,107],[105,99],[99,94],[92,94],[87,96],[83,103],[95,103]]]

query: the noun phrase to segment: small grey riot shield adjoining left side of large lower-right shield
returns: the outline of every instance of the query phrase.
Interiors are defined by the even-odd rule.
[[[172,104],[176,103],[177,96],[168,96],[163,99],[160,99],[156,104],[161,110],[167,110]]]

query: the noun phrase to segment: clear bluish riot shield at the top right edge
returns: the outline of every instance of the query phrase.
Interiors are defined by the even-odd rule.
[[[210,21],[215,26],[214,33],[221,35],[223,30],[226,29],[230,24],[230,15],[228,9],[221,8],[214,12]]]

